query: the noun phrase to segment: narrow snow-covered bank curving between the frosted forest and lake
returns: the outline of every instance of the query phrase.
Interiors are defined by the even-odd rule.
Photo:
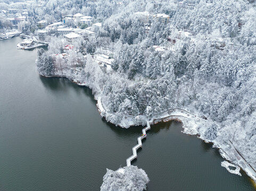
[[[75,81],[75,80],[71,79],[69,76],[67,76],[65,74],[63,74],[63,75],[49,75],[49,76],[46,76],[46,75],[43,75],[43,74],[39,74],[39,75],[43,76],[43,77],[61,77],[61,78],[63,77],[65,79],[70,80],[72,83],[76,83],[79,86],[87,86],[88,87],[88,85],[86,85],[85,82]],[[103,103],[101,101],[101,97],[97,97],[97,98],[94,98],[94,99],[97,100],[96,107],[97,107],[98,111],[100,112],[100,115],[102,117],[105,117],[105,114],[108,113],[108,111],[105,110],[105,108],[103,106]],[[186,111],[184,109],[181,109],[181,108],[175,108],[175,109],[183,110],[183,111],[189,113],[190,115],[193,115],[194,119],[195,118],[203,119],[202,117],[196,116],[196,115],[192,114],[191,112]],[[235,146],[233,145],[233,143],[230,140],[229,140],[229,144],[226,145],[226,146],[216,144],[214,142],[214,140],[213,140],[213,142],[205,140],[199,132],[195,133],[196,131],[194,131],[195,129],[193,129],[197,126],[196,125],[196,120],[194,121],[195,124],[193,124],[194,127],[189,127],[189,128],[184,127],[184,125],[185,126],[191,125],[191,124],[188,124],[188,121],[186,121],[186,119],[189,119],[189,118],[192,119],[191,118],[192,116],[189,115],[188,116],[189,118],[188,118],[184,115],[167,115],[167,116],[164,115],[164,114],[167,114],[168,111],[162,112],[161,115],[157,114],[158,117],[156,117],[156,118],[151,118],[150,120],[148,120],[148,119],[146,119],[146,120],[149,121],[150,125],[157,124],[157,123],[160,123],[160,122],[167,122],[167,121],[171,121],[171,120],[177,120],[177,121],[183,123],[183,129],[184,129],[183,133],[188,134],[188,135],[197,135],[197,137],[200,138],[201,140],[203,140],[204,142],[212,143],[219,150],[220,155],[221,155],[222,158],[224,158],[225,160],[229,161],[230,163],[240,167],[246,173],[246,175],[249,176],[249,178],[251,178],[252,181],[254,181],[255,184],[253,184],[253,186],[256,185],[256,170],[249,163],[247,163],[247,161],[244,159],[244,157],[241,155],[241,153],[237,151],[237,149],[235,148]],[[143,115],[141,115],[141,116],[143,116]],[[129,118],[130,119],[134,118],[134,116],[129,117]],[[184,118],[185,120],[181,119],[181,118]],[[109,121],[109,122],[111,123],[111,121]],[[129,128],[130,126],[135,126],[134,124],[129,124],[129,126],[126,126],[127,124],[123,124],[123,123],[114,124],[114,125],[120,126],[122,128]],[[229,157],[230,153],[226,152],[225,151],[226,149],[233,151],[231,154],[236,156],[237,161],[230,160],[230,157]]]

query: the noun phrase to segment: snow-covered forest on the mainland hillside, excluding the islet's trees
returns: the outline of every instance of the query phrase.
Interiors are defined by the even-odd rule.
[[[40,20],[52,23],[76,13],[102,27],[65,51],[67,42],[52,36],[48,51],[38,51],[40,74],[89,86],[114,124],[128,116],[144,124],[136,116],[151,118],[175,107],[205,116],[209,123],[199,125],[197,134],[214,144],[231,141],[256,169],[254,0],[42,3],[28,7],[29,19],[18,26],[22,32],[34,32]],[[1,25],[10,27],[0,18]],[[101,54],[111,64],[97,62]]]

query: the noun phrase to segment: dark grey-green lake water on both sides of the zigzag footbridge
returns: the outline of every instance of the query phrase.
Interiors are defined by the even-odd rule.
[[[0,41],[0,190],[100,190],[106,168],[126,165],[143,127],[122,129],[98,114],[92,91],[40,77],[37,50]],[[154,190],[254,190],[177,122],[152,126],[138,159]]]

